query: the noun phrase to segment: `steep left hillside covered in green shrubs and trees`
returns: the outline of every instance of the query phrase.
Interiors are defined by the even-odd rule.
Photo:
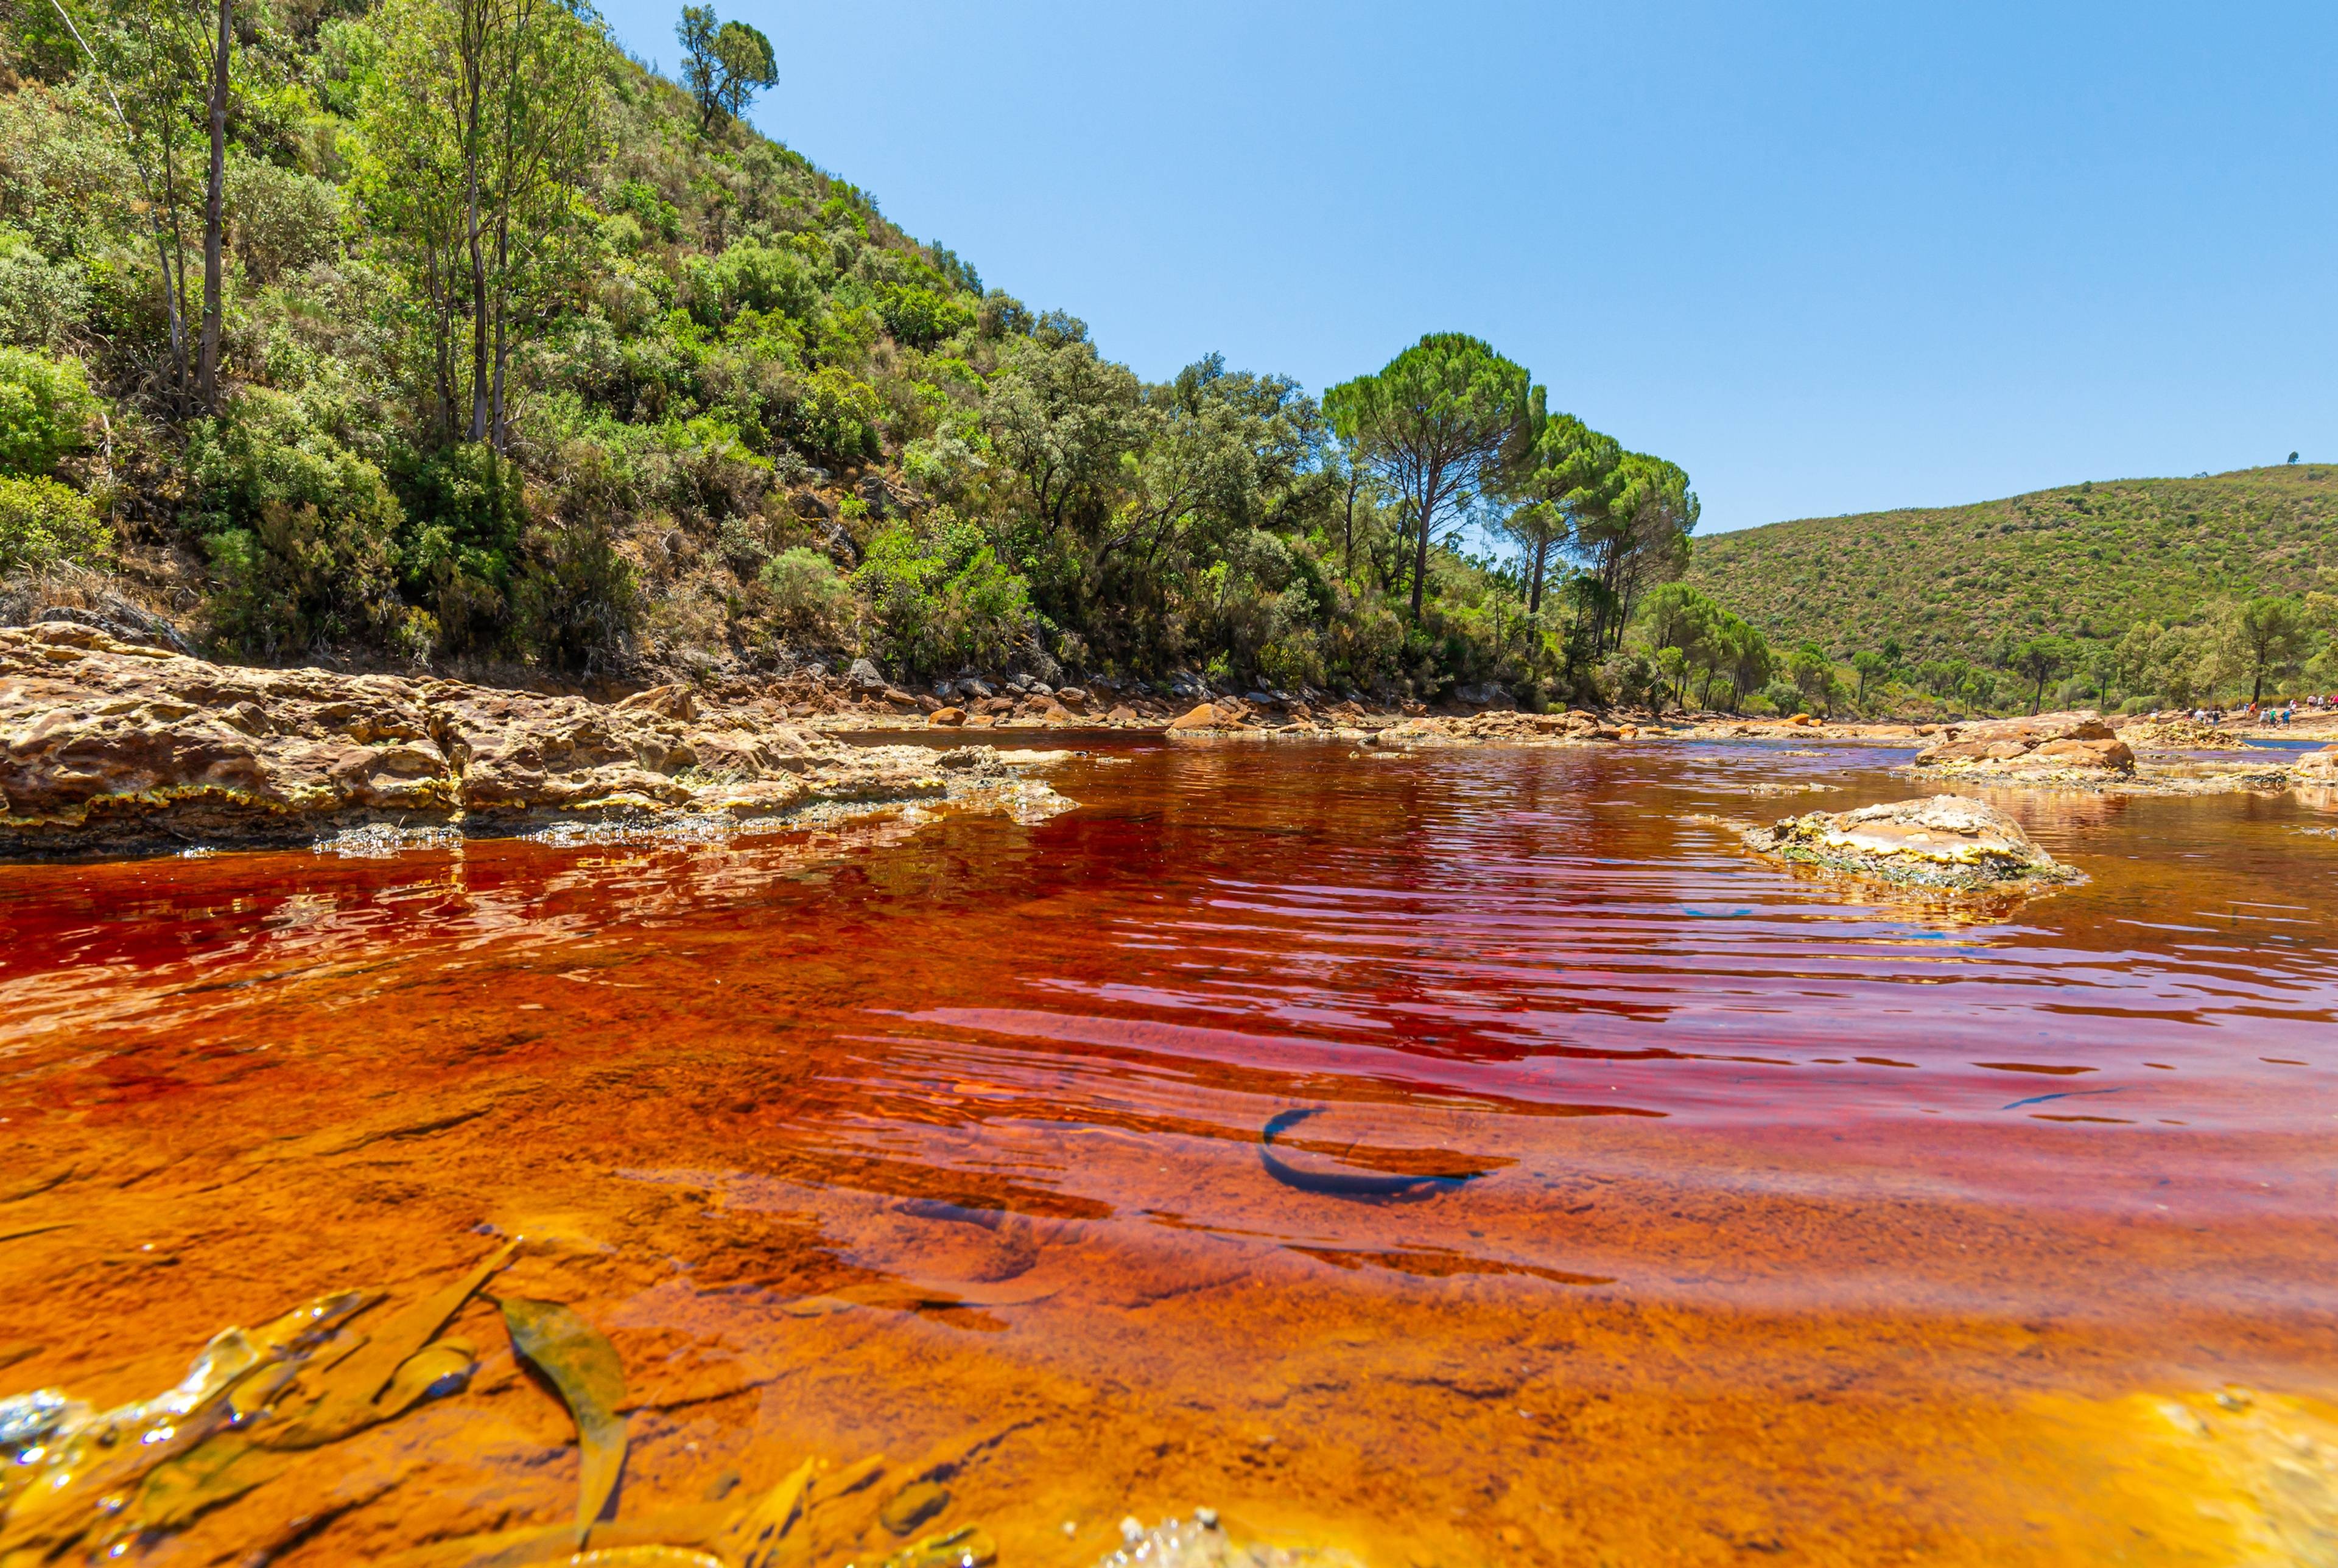
[[[1688,477],[1431,334],[1148,386],[545,0],[0,0],[0,612],[245,659],[1616,687]],[[1473,561],[1464,523],[1527,561]]]

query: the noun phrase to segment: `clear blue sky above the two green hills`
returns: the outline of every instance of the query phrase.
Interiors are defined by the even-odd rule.
[[[1146,376],[1475,332],[1707,530],[2338,458],[2329,0],[729,2],[762,131]]]

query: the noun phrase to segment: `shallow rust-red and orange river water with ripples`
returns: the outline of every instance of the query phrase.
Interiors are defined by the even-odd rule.
[[[1903,752],[1099,743],[1036,827],[0,867],[0,1393],[524,1234],[498,1290],[624,1360],[620,1517],[996,1437],[942,1524],[1003,1563],[1195,1505],[1391,1566],[2338,1561],[2338,816],[1999,795],[2090,881],[1959,914],[1716,820]],[[1309,1108],[1295,1168],[1445,1180],[1279,1180]],[[568,1517],[465,1325],[470,1390],[136,1554]]]

